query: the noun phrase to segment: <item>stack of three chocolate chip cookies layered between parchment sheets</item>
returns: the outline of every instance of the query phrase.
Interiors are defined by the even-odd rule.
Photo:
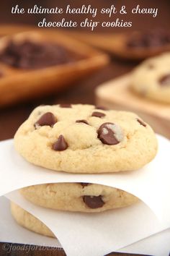
[[[32,164],[73,174],[135,171],[157,152],[153,130],[137,115],[81,104],[35,108],[19,127],[14,145]],[[122,208],[138,201],[121,189],[90,183],[40,184],[20,192],[35,205],[83,213]],[[53,236],[13,202],[12,215],[27,229]]]

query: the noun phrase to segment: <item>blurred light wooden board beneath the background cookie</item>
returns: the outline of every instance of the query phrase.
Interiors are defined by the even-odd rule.
[[[170,138],[170,105],[138,97],[129,85],[130,74],[100,85],[96,90],[97,105],[133,111],[151,124],[155,132]]]

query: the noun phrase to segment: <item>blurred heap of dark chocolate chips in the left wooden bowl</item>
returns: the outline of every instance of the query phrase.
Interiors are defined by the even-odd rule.
[[[80,56],[79,56],[80,59]],[[20,69],[40,69],[75,61],[71,51],[57,43],[9,41],[0,52],[0,61]]]

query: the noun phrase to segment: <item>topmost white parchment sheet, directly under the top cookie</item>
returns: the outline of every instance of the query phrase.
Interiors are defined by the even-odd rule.
[[[0,195],[33,184],[90,182],[117,187],[146,202],[162,219],[170,216],[170,142],[158,135],[156,158],[138,171],[116,174],[68,174],[34,166],[14,150],[13,140],[0,142]]]

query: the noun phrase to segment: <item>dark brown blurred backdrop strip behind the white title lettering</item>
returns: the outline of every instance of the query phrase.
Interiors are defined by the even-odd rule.
[[[111,7],[112,4],[114,4],[115,7],[117,7],[117,10],[120,9],[122,5],[126,6],[128,14],[113,14],[112,17],[108,17],[108,14],[100,14],[98,12],[97,17],[93,18],[91,15],[86,15],[86,14],[78,14],[75,16],[75,14],[11,14],[11,9],[14,7],[16,4],[19,5],[21,8],[30,8],[37,4],[38,7],[44,7],[44,8],[53,8],[53,7],[58,7],[58,8],[63,8],[66,9],[67,4],[71,5],[71,8],[79,8],[81,5],[89,5],[91,4],[91,7],[93,8],[109,8]],[[140,8],[158,8],[158,15],[157,17],[152,17],[151,14],[132,14],[131,9],[133,7],[136,7],[137,5],[140,5]],[[84,20],[86,17],[88,17],[91,20],[94,21],[112,21],[116,20],[117,17],[120,17],[120,20],[127,20],[127,21],[132,21],[133,22],[133,27],[132,30],[138,30],[142,29],[145,30],[146,28],[152,28],[152,27],[167,27],[169,28],[169,11],[170,11],[170,1],[169,0],[74,0],[74,1],[61,1],[61,0],[41,0],[38,4],[37,1],[35,0],[30,0],[30,1],[14,1],[14,0],[8,0],[8,1],[1,1],[1,15],[0,15],[0,22],[1,23],[24,23],[24,24],[30,24],[30,25],[37,25],[37,22],[42,20],[44,17],[47,20],[61,20],[63,17],[66,18],[66,20],[76,20],[76,21],[81,21]],[[100,28],[99,28],[100,29]],[[98,29],[98,30],[99,30]],[[83,28],[81,28],[83,30]],[[110,29],[102,29],[102,31],[117,31],[117,30],[122,30],[122,28],[115,28],[112,27]],[[125,28],[127,30],[127,28]]]

